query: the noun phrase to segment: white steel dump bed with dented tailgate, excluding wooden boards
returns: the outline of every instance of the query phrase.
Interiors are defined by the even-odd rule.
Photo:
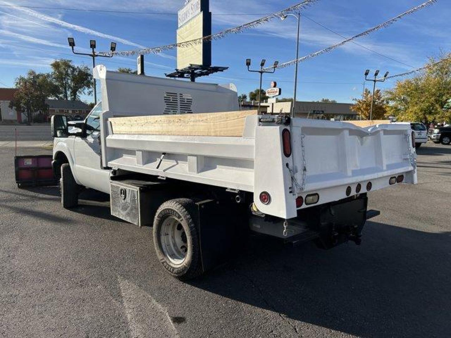
[[[390,178],[399,175],[404,175],[403,183],[417,183],[416,155],[407,125],[359,128],[344,122],[298,118],[285,125],[249,116],[242,137],[114,134],[110,117],[163,114],[161,100],[169,90],[168,81],[174,82],[173,91],[183,95],[191,92],[195,101],[204,101],[198,103],[196,113],[215,111],[215,106],[218,111],[236,110],[228,101],[230,97],[236,100],[236,93],[215,85],[166,79],[158,79],[158,83],[154,78],[124,76],[102,67],[96,70],[102,83],[104,167],[253,192],[261,212],[285,219],[296,217],[298,196],[305,200],[309,194],[318,194],[315,205],[319,205],[346,198],[347,187],[351,187],[350,196],[356,195],[358,184],[364,193],[369,182],[374,191],[390,186]],[[227,105],[230,109],[224,109]],[[283,151],[284,129],[291,133],[292,153],[288,157]],[[166,155],[161,160],[163,153]],[[261,192],[270,194],[269,204],[260,202]],[[308,207],[303,204],[300,208]]]

